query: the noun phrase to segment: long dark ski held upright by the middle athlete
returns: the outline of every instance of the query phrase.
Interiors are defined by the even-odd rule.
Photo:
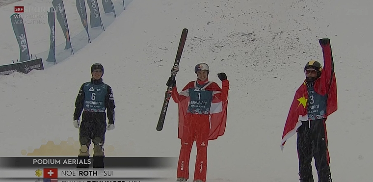
[[[181,54],[183,53],[185,41],[187,40],[187,34],[188,34],[188,29],[184,28],[182,33],[181,33],[178,51],[176,53],[175,62],[174,62],[174,65],[172,65],[172,67],[174,67],[174,66],[179,67]],[[175,78],[176,73],[171,73],[171,77]],[[160,131],[160,130],[163,129],[163,124],[164,124],[164,119],[166,117],[168,103],[169,103],[170,98],[171,98],[171,92],[172,92],[172,87],[167,87],[167,90],[166,90],[165,96],[164,96],[162,109],[160,111],[160,119],[158,120],[158,124],[157,124],[157,131]]]

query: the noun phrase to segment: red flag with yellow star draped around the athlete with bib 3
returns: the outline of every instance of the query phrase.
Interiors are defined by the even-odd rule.
[[[333,72],[326,101],[326,117],[337,110],[337,81]],[[315,81],[315,91],[319,90],[320,78]],[[293,103],[290,107],[288,118],[286,119],[284,131],[281,139],[281,150],[284,149],[286,140],[292,137],[296,130],[302,125],[302,121],[307,121],[307,85],[306,81],[296,90]]]

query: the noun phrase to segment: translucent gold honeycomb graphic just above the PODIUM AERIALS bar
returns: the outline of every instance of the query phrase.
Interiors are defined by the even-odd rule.
[[[115,150],[113,145],[104,145],[105,156],[123,156],[121,150]],[[39,148],[28,147],[27,150],[21,150],[22,156],[78,156],[80,149],[80,142],[74,140],[73,137],[67,140],[54,138],[54,140],[42,139],[42,145]],[[89,147],[89,154],[92,156],[93,143]]]

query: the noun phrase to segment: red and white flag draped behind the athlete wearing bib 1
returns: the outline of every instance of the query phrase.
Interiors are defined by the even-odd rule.
[[[183,136],[183,125],[187,117],[187,108],[189,105],[189,98],[184,99],[179,103],[179,132],[178,138]],[[221,136],[225,132],[225,126],[227,123],[227,108],[228,108],[228,99],[227,101],[220,101],[216,97],[213,97],[213,102],[210,109],[210,134],[209,140],[217,139],[218,136]],[[195,139],[194,139],[195,140]]]

